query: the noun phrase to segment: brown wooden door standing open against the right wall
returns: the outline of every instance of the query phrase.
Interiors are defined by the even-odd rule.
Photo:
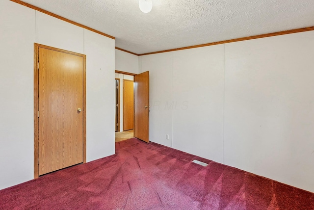
[[[134,76],[134,137],[149,142],[149,72]]]

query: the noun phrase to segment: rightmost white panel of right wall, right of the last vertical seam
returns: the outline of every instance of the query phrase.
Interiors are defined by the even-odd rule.
[[[225,164],[314,191],[313,37],[226,44]]]

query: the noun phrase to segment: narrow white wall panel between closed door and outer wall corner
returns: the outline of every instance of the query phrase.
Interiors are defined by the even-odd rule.
[[[114,40],[84,29],[87,161],[113,155]]]

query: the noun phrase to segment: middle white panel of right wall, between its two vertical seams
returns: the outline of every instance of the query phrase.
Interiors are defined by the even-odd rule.
[[[224,46],[173,52],[173,148],[223,162]]]

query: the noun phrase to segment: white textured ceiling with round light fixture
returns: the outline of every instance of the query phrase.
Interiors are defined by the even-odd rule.
[[[116,38],[133,53],[151,53],[314,26],[314,0],[23,0]]]

